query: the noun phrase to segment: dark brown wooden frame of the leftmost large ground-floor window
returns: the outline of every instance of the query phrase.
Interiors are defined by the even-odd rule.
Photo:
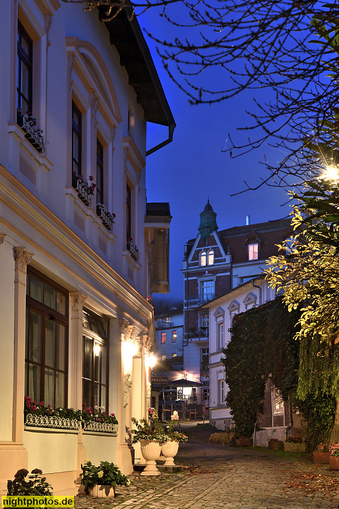
[[[66,297],[66,302],[65,302],[65,309],[66,309],[66,314],[63,315],[59,312],[57,312],[55,309],[52,309],[50,307],[48,307],[46,304],[43,304],[43,302],[39,302],[38,300],[34,299],[33,297],[30,297],[29,295],[29,291],[30,291],[30,277],[31,275],[33,275],[34,277],[36,277],[37,279],[41,280],[43,283],[46,283],[48,286],[50,286],[51,288],[53,288],[54,290],[58,291],[59,293],[65,295]],[[43,297],[44,298],[44,297]],[[52,370],[54,373],[58,372],[58,373],[64,373],[65,374],[65,386],[64,386],[64,407],[67,408],[67,393],[68,393],[68,348],[69,348],[69,342],[68,342],[68,335],[69,335],[69,295],[68,295],[68,292],[65,288],[57,285],[55,283],[55,281],[53,281],[52,279],[49,279],[48,277],[46,277],[44,274],[42,274],[41,272],[37,271],[37,270],[34,270],[33,268],[27,268],[27,293],[26,293],[26,313],[27,313],[27,310],[34,310],[36,311],[37,313],[39,313],[42,317],[41,319],[41,324],[40,324],[40,328],[41,328],[41,351],[40,351],[40,362],[35,362],[35,361],[32,361],[30,359],[28,359],[28,355],[27,355],[27,351],[25,351],[25,365],[27,365],[27,367],[29,365],[39,365],[40,366],[40,377],[39,377],[39,387],[40,387],[40,397],[39,397],[39,400],[40,401],[45,401],[45,367],[47,367],[47,369],[49,370]],[[50,367],[48,365],[46,365],[45,363],[45,338],[46,338],[46,318],[49,319],[49,320],[55,320],[56,323],[60,323],[61,325],[63,325],[65,327],[65,370],[60,370],[60,369],[57,369],[55,367]],[[28,331],[29,331],[29,315],[28,315],[28,320],[27,320],[27,326],[28,326]],[[28,331],[26,331],[26,333],[28,334]],[[30,341],[30,338],[27,337],[27,340],[26,340],[26,347],[28,348],[28,351],[29,351],[29,341]],[[55,343],[55,347],[56,349],[56,343]],[[54,355],[55,355],[55,351],[54,351]],[[25,380],[25,392],[28,391],[28,386],[29,386],[29,370],[27,369],[26,370],[26,380]],[[25,394],[25,395],[28,395],[28,394]],[[56,397],[56,383],[55,383],[55,379],[54,379],[54,403],[55,403],[55,397]],[[39,402],[38,402],[39,403]]]

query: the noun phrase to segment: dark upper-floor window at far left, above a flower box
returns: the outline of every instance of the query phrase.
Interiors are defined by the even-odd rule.
[[[33,41],[18,22],[17,54],[17,108],[32,114],[33,94]]]

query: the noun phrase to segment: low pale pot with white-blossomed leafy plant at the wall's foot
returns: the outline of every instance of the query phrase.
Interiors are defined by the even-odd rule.
[[[81,465],[81,484],[90,496],[96,498],[112,498],[115,496],[115,486],[129,486],[130,479],[122,474],[114,463],[100,462],[99,467],[90,461]]]

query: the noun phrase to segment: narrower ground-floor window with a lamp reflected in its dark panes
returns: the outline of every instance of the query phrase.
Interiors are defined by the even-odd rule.
[[[108,320],[83,311],[82,401],[108,409]]]

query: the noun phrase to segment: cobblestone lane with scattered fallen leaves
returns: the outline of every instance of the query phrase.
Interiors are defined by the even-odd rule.
[[[313,465],[307,455],[281,457],[265,449],[208,443],[205,433],[191,429],[180,444],[177,474],[129,476],[109,501],[82,497],[77,509],[330,509],[339,507],[339,475],[328,465]],[[206,433],[207,431],[207,433]],[[297,477],[297,481],[295,480]],[[319,487],[325,489],[319,491]]]

